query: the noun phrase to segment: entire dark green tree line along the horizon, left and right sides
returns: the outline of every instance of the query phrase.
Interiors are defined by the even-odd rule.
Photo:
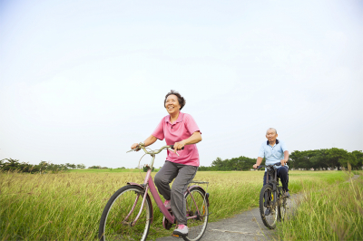
[[[262,164],[264,164],[263,159]],[[211,167],[199,167],[199,170],[250,170],[256,159],[250,159],[244,156],[233,159],[217,158],[211,162]],[[352,169],[362,169],[363,152],[354,150],[348,152],[345,149],[312,149],[312,150],[295,150],[289,154],[289,169],[341,169],[347,168],[348,163]],[[85,169],[84,164],[53,164],[41,161],[37,165],[20,162],[17,159],[0,160],[0,171],[18,171],[27,173],[58,173],[68,169]],[[107,169],[101,166],[92,166],[88,169]],[[121,168],[124,169],[124,168]],[[143,171],[147,169],[143,167]]]

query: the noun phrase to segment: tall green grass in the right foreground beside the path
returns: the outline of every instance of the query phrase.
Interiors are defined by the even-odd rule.
[[[360,173],[362,174],[362,173]],[[282,240],[363,240],[363,179],[305,189]]]

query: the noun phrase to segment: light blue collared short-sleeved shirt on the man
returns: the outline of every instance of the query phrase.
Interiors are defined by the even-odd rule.
[[[281,159],[284,159],[284,151],[288,150],[288,148],[285,145],[285,142],[282,140],[276,140],[275,145],[272,147],[270,146],[269,140],[266,142],[263,142],[260,147],[259,157],[266,159],[266,165],[275,164],[277,162],[280,162]],[[285,164],[289,168],[288,165]],[[279,169],[282,166],[277,166]]]

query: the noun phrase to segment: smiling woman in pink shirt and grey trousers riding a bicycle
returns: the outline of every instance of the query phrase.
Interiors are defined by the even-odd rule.
[[[201,141],[201,131],[195,120],[191,115],[181,112],[184,105],[185,100],[179,92],[168,92],[164,107],[169,115],[163,117],[152,135],[144,140],[145,146],[152,145],[158,139],[165,139],[167,145],[174,145],[174,152],[168,150],[166,161],[154,180],[165,198],[165,207],[172,208],[178,221],[178,226],[172,233],[178,236],[188,235],[184,192],[197,173],[199,154],[196,143]],[[135,149],[137,145],[134,143],[131,148]],[[179,157],[175,153],[177,150]],[[169,184],[174,178],[171,189]]]

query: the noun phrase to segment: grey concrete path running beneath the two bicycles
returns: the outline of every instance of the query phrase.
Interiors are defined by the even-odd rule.
[[[296,207],[298,196],[289,198],[289,211]],[[211,214],[212,215],[212,214]],[[172,233],[172,229],[171,229]],[[260,209],[253,208],[235,217],[225,218],[218,222],[208,223],[207,230],[202,236],[204,241],[229,240],[272,240],[274,231],[265,227],[260,217]],[[178,241],[178,237],[165,236],[156,241]]]

